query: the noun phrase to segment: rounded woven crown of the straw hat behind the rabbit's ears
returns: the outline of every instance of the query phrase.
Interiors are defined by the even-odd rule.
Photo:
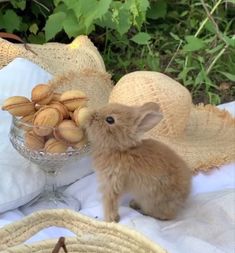
[[[189,91],[172,78],[151,71],[136,71],[122,77],[113,88],[110,103],[142,105],[158,103],[163,120],[151,135],[179,136],[185,129],[192,107]]]

